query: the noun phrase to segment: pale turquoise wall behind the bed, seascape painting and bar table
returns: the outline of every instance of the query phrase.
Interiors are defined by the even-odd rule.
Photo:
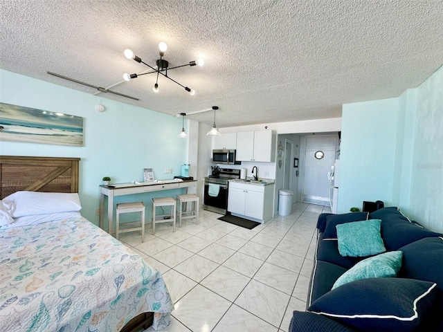
[[[181,118],[3,70],[0,71],[0,101],[84,118],[83,147],[2,141],[0,154],[82,158],[82,215],[96,225],[98,186],[103,176],[110,176],[111,183],[143,181],[143,168],[151,167],[155,178],[169,179],[179,175],[181,165],[187,161],[187,140],[177,138],[181,131]],[[105,112],[97,112],[94,109],[96,104],[104,105]],[[173,173],[164,174],[165,168],[172,168]],[[181,193],[181,190],[168,190],[155,195],[173,196]],[[144,201],[147,219],[150,219],[152,195],[116,197],[114,201]]]

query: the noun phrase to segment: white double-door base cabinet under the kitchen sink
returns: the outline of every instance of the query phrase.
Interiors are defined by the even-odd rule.
[[[230,181],[228,211],[253,221],[272,218],[274,185],[250,185]]]

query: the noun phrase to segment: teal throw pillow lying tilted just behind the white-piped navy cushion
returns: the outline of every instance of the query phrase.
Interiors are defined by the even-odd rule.
[[[360,279],[395,277],[401,268],[403,252],[390,251],[359,261],[339,277],[332,289]]]

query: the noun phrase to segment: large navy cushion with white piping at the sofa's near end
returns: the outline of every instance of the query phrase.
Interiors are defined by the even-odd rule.
[[[308,311],[361,331],[413,331],[429,317],[435,283],[370,278],[350,282],[316,300]]]

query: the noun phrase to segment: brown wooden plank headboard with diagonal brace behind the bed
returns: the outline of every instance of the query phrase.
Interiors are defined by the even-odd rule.
[[[17,192],[78,192],[80,158],[0,156],[0,199]]]

